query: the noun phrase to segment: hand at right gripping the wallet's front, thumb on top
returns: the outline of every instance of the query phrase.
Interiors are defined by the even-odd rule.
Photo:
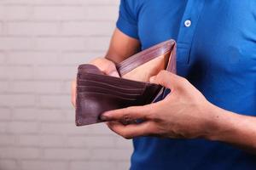
[[[193,139],[204,137],[212,128],[212,105],[186,79],[167,71],[160,71],[151,82],[172,90],[158,103],[129,107],[102,114],[108,127],[125,139],[137,136],[160,136]],[[143,119],[139,124],[124,125],[125,120]]]

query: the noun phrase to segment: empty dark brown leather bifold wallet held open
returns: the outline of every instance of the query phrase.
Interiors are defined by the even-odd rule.
[[[168,40],[132,55],[116,65],[120,77],[110,77],[95,65],[79,65],[77,75],[76,125],[102,122],[105,111],[148,105],[165,88],[150,83],[161,70],[176,73],[176,42]]]

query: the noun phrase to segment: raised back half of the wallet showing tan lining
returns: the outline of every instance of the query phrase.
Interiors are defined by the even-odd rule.
[[[119,74],[122,78],[149,82],[149,78],[157,75],[162,70],[167,70],[167,67],[172,63],[174,57],[174,41],[162,42],[152,51],[145,51],[125,59],[124,62],[117,65]],[[157,50],[161,48],[161,50]]]

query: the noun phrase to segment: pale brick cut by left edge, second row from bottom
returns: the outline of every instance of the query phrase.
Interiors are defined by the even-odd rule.
[[[40,150],[36,148],[4,147],[0,148],[1,159],[35,159],[40,156]]]

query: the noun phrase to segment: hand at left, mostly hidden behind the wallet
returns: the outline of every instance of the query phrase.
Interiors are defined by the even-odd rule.
[[[104,59],[104,58],[97,58],[97,59],[93,59],[92,61],[90,61],[91,65],[96,65],[96,67],[98,67],[103,73],[105,73],[108,76],[112,76],[112,77],[119,77],[119,73],[116,70],[116,67],[114,65],[114,63],[108,59]],[[74,80],[72,82],[72,91],[71,91],[71,99],[72,99],[72,104],[73,106],[75,106],[76,104],[76,87],[77,87],[77,81]]]

